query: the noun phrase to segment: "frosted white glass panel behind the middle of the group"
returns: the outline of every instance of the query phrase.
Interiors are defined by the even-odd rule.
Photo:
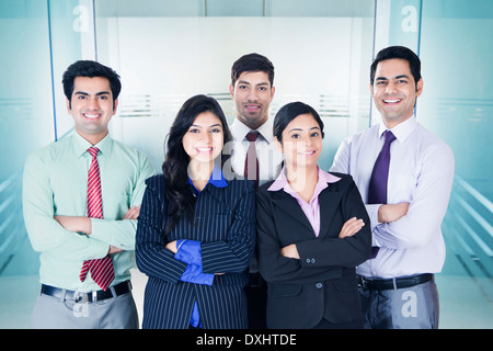
[[[231,65],[252,52],[275,66],[272,116],[301,100],[324,118],[323,168],[346,135],[368,126],[369,90],[360,78],[371,60],[372,2],[208,0],[202,12],[187,3],[187,10],[181,1],[158,9],[156,1],[140,1],[134,14],[125,1],[95,2],[98,57],[123,81],[113,136],[144,150],[157,169],[187,98],[214,95],[232,122]],[[306,11],[298,11],[301,3]]]

